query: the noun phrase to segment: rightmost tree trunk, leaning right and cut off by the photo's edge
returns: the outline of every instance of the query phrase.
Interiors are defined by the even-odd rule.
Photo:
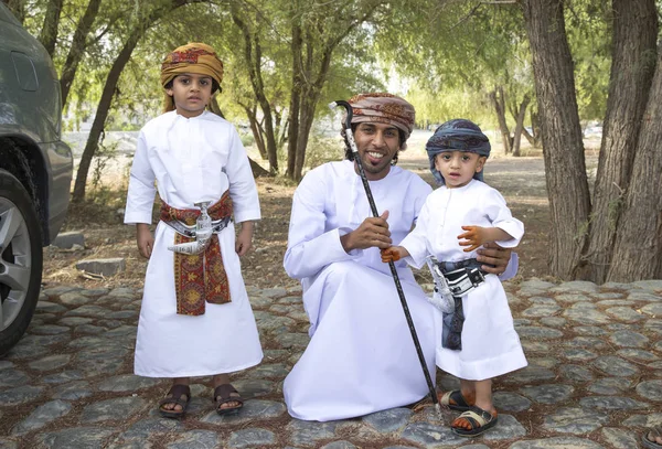
[[[607,279],[662,278],[662,49],[643,114]]]

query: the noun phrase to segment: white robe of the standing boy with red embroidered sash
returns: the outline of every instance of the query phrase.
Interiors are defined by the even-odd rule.
[[[177,209],[212,204],[229,189],[237,223],[259,220],[257,189],[234,126],[203,113],[174,111],[150,120],[140,131],[131,167],[125,223],[152,222],[154,180],[159,196]],[[255,318],[235,252],[231,224],[217,234],[232,301],[205,303],[197,317],[177,313],[174,231],[159,222],[145,279],[138,322],[135,373],[147,377],[189,377],[231,373],[263,359]]]

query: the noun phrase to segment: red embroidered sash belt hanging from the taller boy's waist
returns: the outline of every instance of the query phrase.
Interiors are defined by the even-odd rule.
[[[227,226],[232,212],[232,200],[226,191],[221,200],[207,209],[215,233]],[[199,215],[200,210],[174,209],[161,200],[160,218],[175,231],[175,245],[195,239]],[[174,286],[179,314],[203,314],[205,302],[222,304],[231,301],[218,237],[212,237],[211,244],[200,254],[174,253]]]

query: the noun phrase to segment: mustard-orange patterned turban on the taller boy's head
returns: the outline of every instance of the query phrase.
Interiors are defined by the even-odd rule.
[[[166,87],[177,75],[195,73],[211,76],[218,85],[223,81],[223,62],[211,46],[192,42],[168,53],[161,64],[161,86]],[[166,110],[174,109],[172,97],[167,95]]]

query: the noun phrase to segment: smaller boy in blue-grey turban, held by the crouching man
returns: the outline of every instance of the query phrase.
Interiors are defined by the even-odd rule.
[[[437,366],[460,378],[460,391],[440,395],[440,402],[465,411],[452,421],[452,431],[473,437],[496,424],[492,377],[526,366],[501,281],[481,271],[476,249],[488,242],[514,247],[524,226],[503,196],[482,182],[490,142],[476,124],[447,121],[426,150],[442,185],[427,197],[414,231],[399,246],[384,249],[382,260],[406,257],[417,268],[429,255],[440,260],[455,310],[444,313]]]

